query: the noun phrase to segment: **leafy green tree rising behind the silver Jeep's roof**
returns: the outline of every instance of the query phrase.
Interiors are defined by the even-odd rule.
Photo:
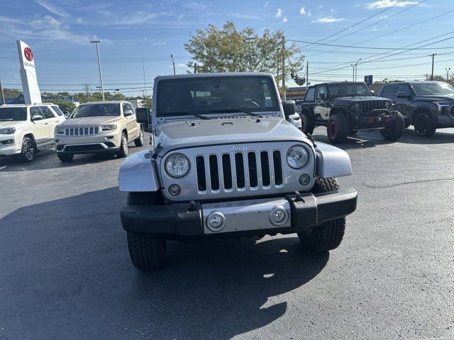
[[[196,30],[184,48],[193,61],[187,66],[197,72],[272,72],[277,81],[282,79],[284,55],[286,79],[290,72],[301,73],[304,55],[294,44],[285,43],[284,32],[264,30],[262,35],[253,28],[238,30],[235,23],[227,21],[222,29],[209,25],[206,30]]]

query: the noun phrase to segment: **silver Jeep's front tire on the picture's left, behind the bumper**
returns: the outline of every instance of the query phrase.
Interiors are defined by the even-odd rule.
[[[163,203],[159,192],[128,193],[128,205],[159,205]],[[128,232],[128,250],[131,262],[140,271],[165,266],[167,240],[160,234]]]

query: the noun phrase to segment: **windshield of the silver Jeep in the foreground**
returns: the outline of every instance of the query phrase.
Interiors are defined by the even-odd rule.
[[[157,117],[190,113],[279,111],[271,77],[165,79],[157,90]]]

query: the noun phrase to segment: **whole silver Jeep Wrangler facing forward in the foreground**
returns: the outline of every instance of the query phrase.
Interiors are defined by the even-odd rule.
[[[288,123],[272,74],[157,77],[149,151],[128,157],[120,190],[131,261],[165,263],[167,239],[297,233],[313,251],[341,244],[357,192],[336,176],[352,172],[341,149],[315,143]]]

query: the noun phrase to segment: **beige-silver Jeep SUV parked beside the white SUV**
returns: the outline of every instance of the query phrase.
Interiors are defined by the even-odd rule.
[[[70,117],[55,127],[55,149],[62,162],[74,154],[107,152],[128,156],[128,143],[143,145],[143,130],[128,101],[83,103]]]

